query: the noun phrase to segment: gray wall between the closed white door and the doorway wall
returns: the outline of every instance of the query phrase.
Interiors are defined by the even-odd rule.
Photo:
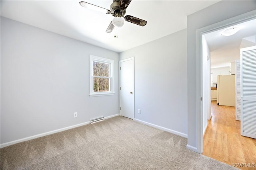
[[[187,134],[186,41],[184,29],[120,53],[134,57],[135,119]]]

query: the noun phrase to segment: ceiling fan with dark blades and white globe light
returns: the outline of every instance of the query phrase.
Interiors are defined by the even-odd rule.
[[[110,5],[110,10],[84,1],[79,2],[79,4],[85,8],[90,8],[93,10],[104,12],[106,14],[112,14],[112,16],[114,16],[115,18],[110,22],[106,30],[107,33],[111,33],[114,27],[122,27],[124,25],[124,20],[122,19],[122,17],[128,22],[135,23],[140,26],[145,26],[147,24],[147,21],[141,20],[140,18],[136,18],[130,15],[124,16],[124,14],[126,13],[126,8],[131,1],[132,0],[113,0],[113,3]]]

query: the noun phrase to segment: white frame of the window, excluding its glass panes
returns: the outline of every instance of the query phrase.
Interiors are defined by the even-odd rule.
[[[109,64],[109,79],[110,79],[110,88],[108,92],[94,92],[93,90],[93,62],[98,62],[98,63],[105,63]],[[97,57],[94,55],[90,55],[90,97],[95,97],[95,96],[108,96],[108,95],[114,95],[114,60],[106,59],[103,57]]]

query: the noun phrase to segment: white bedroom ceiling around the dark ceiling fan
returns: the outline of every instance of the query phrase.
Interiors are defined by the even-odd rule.
[[[110,8],[112,0],[84,0]],[[129,22],[118,29],[118,38],[106,29],[111,14],[83,8],[78,1],[10,1],[1,0],[1,16],[71,37],[116,52],[126,51],[186,28],[188,15],[219,0],[132,0],[126,9],[131,15],[147,21],[141,27]]]

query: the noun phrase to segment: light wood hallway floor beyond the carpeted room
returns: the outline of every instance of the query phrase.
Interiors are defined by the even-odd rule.
[[[203,154],[229,165],[234,163],[239,169],[256,170],[256,139],[241,136],[236,108],[218,106],[216,101],[211,106],[212,119],[204,134]]]

